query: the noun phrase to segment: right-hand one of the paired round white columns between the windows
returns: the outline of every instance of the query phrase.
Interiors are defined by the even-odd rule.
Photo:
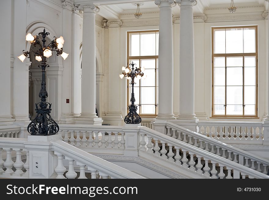
[[[176,0],[180,3],[179,35],[179,124],[195,131],[194,114],[194,36],[193,3],[195,0]],[[193,125],[192,125],[193,124]],[[192,127],[193,126],[193,127]]]

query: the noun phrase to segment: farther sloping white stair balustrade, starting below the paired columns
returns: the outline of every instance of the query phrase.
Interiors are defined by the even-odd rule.
[[[234,162],[240,163],[242,165],[244,164],[247,167],[267,174],[267,166],[269,166],[269,160],[267,159],[235,148],[219,140],[198,134],[197,132],[193,132],[179,125],[175,125],[174,123],[166,122],[165,125],[169,130],[171,129],[173,132],[170,133],[169,131],[167,135],[173,138],[179,139],[183,142],[187,142],[193,146],[205,149],[218,156],[222,156],[224,158],[227,158],[228,160],[233,160]],[[263,165],[263,170],[261,164]]]

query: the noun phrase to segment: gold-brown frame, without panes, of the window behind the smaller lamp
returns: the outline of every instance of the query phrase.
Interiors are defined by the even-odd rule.
[[[131,33],[152,33],[159,32],[159,30],[143,30],[143,31],[127,31],[127,65],[129,66],[129,60],[139,60],[139,64],[143,59],[155,59],[155,114],[141,114],[142,104],[141,104],[141,79],[139,80],[139,104],[138,105],[138,114],[140,117],[156,117],[158,115],[158,104],[157,104],[157,59],[159,59],[159,55],[155,56],[130,56],[130,34]],[[157,48],[157,45],[156,45]],[[156,49],[157,50],[157,49]],[[140,51],[140,49],[139,49]],[[137,66],[139,67],[139,66]],[[145,74],[146,75],[146,74]],[[128,113],[128,105],[130,105],[130,81],[127,80],[127,113]],[[153,86],[143,86],[143,87],[153,87]],[[153,104],[143,104],[143,105],[153,105]]]

